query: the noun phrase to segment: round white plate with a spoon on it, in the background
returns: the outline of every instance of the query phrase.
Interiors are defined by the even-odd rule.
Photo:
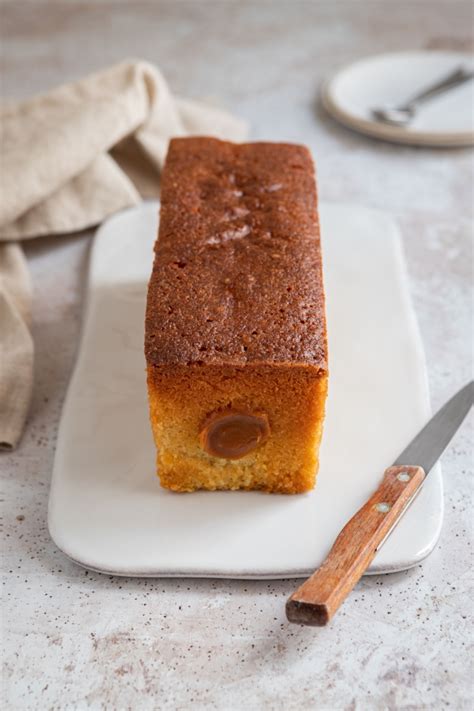
[[[345,67],[325,84],[323,103],[341,123],[376,138],[415,145],[470,145],[474,143],[472,80],[426,103],[407,128],[371,116],[373,107],[406,101],[459,65],[472,68],[472,55],[425,51],[368,57]]]

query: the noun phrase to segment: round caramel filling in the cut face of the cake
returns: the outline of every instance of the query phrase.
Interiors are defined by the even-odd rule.
[[[240,459],[262,444],[269,434],[265,414],[227,411],[211,415],[199,437],[203,449],[213,457]]]

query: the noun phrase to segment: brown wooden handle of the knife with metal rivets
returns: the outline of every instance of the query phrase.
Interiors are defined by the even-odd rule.
[[[397,466],[344,526],[328,557],[286,603],[290,622],[322,627],[362,577],[377,548],[425,479],[421,467]]]

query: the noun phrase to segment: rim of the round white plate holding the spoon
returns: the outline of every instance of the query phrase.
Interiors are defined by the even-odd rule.
[[[384,57],[399,57],[402,54],[427,54],[427,53],[443,54],[442,50],[404,50],[403,52],[388,52],[383,54],[375,54],[373,56],[362,57],[361,59],[346,64],[332,74],[321,87],[321,100],[324,108],[333,118],[343,124],[346,128],[364,133],[372,138],[389,141],[391,143],[401,143],[403,145],[412,146],[431,146],[433,148],[462,148],[463,146],[474,145],[474,131],[462,131],[459,133],[441,132],[441,131],[406,131],[397,126],[384,124],[376,121],[369,121],[356,118],[352,114],[341,109],[337,101],[332,96],[332,86],[340,74],[345,72],[349,67],[357,64],[362,64],[368,60],[377,60]],[[452,52],[444,52],[445,54],[453,54]]]

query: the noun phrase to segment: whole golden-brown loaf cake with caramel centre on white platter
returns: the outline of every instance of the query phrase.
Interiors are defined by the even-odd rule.
[[[314,486],[327,342],[307,148],[171,141],[145,355],[162,486]]]

